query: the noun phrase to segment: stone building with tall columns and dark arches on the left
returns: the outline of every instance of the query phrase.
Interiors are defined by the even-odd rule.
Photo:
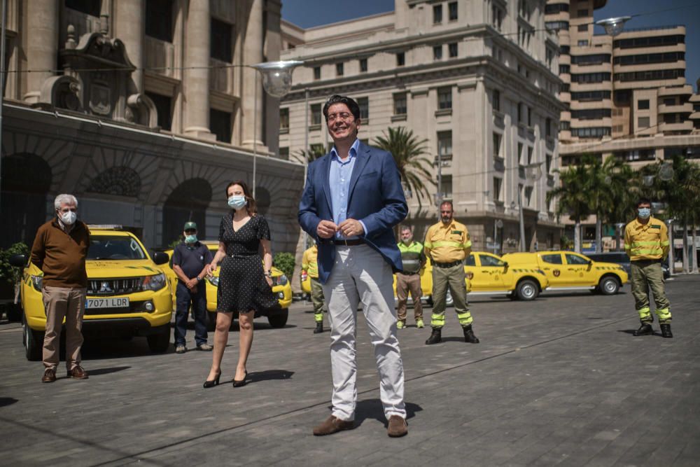
[[[252,183],[255,146],[273,247],[294,251],[304,169],[270,157],[279,101],[248,67],[279,60],[280,11],[279,0],[8,0],[1,246],[31,242],[57,193],[147,246],[190,219],[216,239],[225,186]]]

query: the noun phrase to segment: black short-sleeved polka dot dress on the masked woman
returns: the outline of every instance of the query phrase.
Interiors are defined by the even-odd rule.
[[[260,214],[238,230],[233,230],[233,211],[221,218],[219,242],[226,245],[226,256],[219,273],[218,312],[261,312],[279,307],[265,280],[258,253],[260,239],[269,240],[269,226]]]

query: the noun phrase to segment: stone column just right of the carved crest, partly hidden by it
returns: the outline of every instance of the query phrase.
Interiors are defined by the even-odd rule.
[[[146,34],[146,8],[144,0],[118,0],[114,4],[114,34],[121,39],[127,55],[137,71],[132,73],[134,89],[129,94],[144,92],[144,35]]]

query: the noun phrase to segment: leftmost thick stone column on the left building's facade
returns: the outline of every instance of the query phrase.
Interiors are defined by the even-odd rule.
[[[25,101],[38,102],[41,85],[54,76],[48,71],[57,67],[58,56],[58,2],[56,0],[31,0],[27,2],[27,93]]]

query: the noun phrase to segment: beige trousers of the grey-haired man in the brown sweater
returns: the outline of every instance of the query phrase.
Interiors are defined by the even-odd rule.
[[[43,286],[46,310],[43,364],[56,369],[59,362],[61,326],[66,319],[66,368],[73,370],[80,365],[80,347],[83,346],[83,314],[85,314],[85,288]]]

